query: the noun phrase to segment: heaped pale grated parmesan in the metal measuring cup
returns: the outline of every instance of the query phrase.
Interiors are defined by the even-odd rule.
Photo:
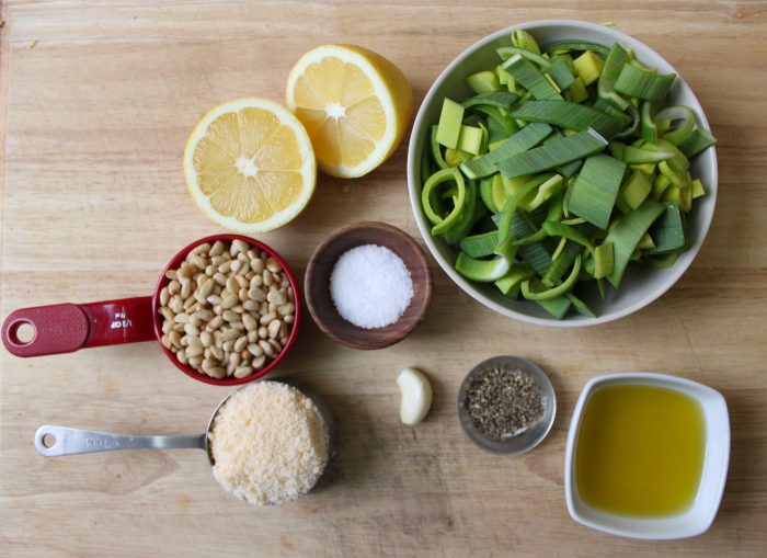
[[[236,391],[217,413],[208,443],[216,480],[254,505],[307,493],[328,464],[328,431],[317,406],[279,382]]]

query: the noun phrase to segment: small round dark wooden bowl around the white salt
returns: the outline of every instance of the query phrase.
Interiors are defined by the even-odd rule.
[[[330,275],[339,258],[358,246],[378,244],[394,252],[413,280],[413,298],[394,323],[364,329],[344,320],[330,295]],[[432,267],[426,254],[408,234],[385,223],[366,221],[343,227],[325,238],[309,259],[304,278],[309,314],[331,339],[353,349],[384,349],[407,338],[426,316],[432,301]]]

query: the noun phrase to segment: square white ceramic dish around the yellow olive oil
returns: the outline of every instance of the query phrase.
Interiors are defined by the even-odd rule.
[[[684,512],[656,519],[629,517],[606,513],[585,503],[580,496],[575,476],[575,448],[583,411],[598,389],[615,385],[649,385],[674,389],[700,405],[706,430],[706,454],[698,493]],[[724,492],[730,463],[730,418],[722,395],[702,384],[689,379],[650,372],[608,374],[592,378],[581,391],[581,397],[570,423],[564,458],[564,494],[568,511],[573,520],[588,527],[613,535],[631,538],[668,539],[700,535],[709,528],[717,515]]]

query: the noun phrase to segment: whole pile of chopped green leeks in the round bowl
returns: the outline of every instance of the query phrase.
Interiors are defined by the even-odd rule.
[[[593,318],[594,293],[607,299],[630,266],[671,266],[688,248],[688,212],[706,195],[690,162],[716,139],[668,106],[675,76],[621,45],[539,47],[517,30],[496,52],[430,128],[423,215],[463,277],[557,319]]]

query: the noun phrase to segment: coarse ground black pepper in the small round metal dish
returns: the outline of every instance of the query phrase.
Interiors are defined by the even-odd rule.
[[[543,415],[538,385],[518,368],[495,366],[477,374],[463,407],[474,428],[496,442],[515,436]]]

